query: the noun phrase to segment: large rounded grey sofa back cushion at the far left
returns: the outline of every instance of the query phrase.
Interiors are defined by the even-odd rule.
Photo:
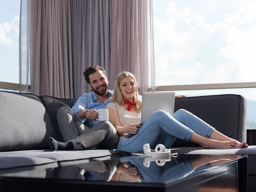
[[[37,96],[0,91],[0,151],[49,148],[56,137],[52,121]]]

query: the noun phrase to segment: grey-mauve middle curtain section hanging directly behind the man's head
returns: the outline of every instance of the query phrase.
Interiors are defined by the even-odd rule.
[[[90,92],[83,72],[88,65],[102,66],[110,73],[109,0],[71,1],[74,96]]]

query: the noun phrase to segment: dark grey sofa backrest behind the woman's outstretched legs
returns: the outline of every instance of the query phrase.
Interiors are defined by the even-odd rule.
[[[241,95],[223,94],[175,98],[175,111],[187,111],[239,142],[246,141],[246,99]],[[176,139],[172,147],[199,146]]]

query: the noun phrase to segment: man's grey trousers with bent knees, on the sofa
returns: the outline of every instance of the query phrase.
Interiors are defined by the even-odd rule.
[[[64,138],[63,142],[72,142],[74,150],[90,149],[95,146],[99,149],[117,148],[119,135],[109,121],[99,122],[91,129],[87,128],[69,107],[59,108],[57,121]]]

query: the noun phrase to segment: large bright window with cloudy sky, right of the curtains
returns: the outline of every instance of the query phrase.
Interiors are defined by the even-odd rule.
[[[256,1],[153,0],[153,11],[157,86],[254,82],[256,87]],[[256,125],[249,119],[256,110],[255,88],[181,94],[227,92],[246,97],[247,108],[253,108],[247,119]]]

